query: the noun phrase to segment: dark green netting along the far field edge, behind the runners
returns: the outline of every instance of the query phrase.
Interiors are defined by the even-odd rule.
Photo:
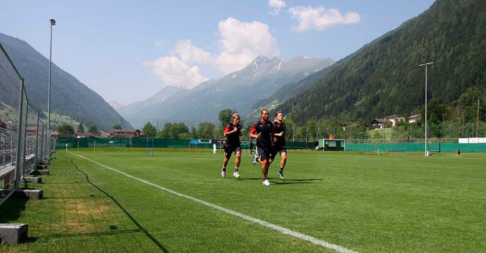
[[[183,139],[146,139],[146,138],[73,138],[58,140],[56,149],[66,148],[91,148],[91,147],[136,147],[145,148],[152,146],[154,148],[188,148],[189,140]],[[221,143],[216,143],[216,146],[221,147]],[[287,142],[288,149],[312,149],[316,146],[312,142]],[[194,148],[194,144],[191,145]],[[199,143],[197,148],[213,148],[213,143]],[[242,149],[250,149],[250,142],[241,142]]]

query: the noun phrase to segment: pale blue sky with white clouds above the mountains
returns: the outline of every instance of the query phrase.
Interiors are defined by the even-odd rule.
[[[433,0],[2,0],[0,32],[26,41],[107,102],[191,89],[258,55],[338,61]]]

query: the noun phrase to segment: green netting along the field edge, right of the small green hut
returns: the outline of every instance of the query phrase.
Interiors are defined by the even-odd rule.
[[[429,143],[427,148],[430,152],[486,152],[486,143],[464,144],[464,143]],[[346,151],[382,151],[382,152],[423,152],[424,143],[399,143],[399,144],[371,144],[371,143],[346,143]]]

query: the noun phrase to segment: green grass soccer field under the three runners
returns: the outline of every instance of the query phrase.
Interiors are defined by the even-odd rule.
[[[31,237],[0,251],[486,251],[486,154],[291,150],[265,187],[248,153],[223,179],[210,151],[60,151],[26,185],[46,199],[0,206]]]

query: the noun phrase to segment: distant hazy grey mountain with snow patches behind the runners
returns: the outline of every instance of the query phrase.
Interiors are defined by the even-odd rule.
[[[230,108],[247,114],[257,101],[271,96],[287,83],[299,81],[332,64],[334,61],[329,58],[298,56],[282,61],[260,55],[245,68],[222,78],[205,81],[190,90],[166,87],[151,98],[118,111],[136,126],[154,119],[162,123],[216,122],[220,110]]]

